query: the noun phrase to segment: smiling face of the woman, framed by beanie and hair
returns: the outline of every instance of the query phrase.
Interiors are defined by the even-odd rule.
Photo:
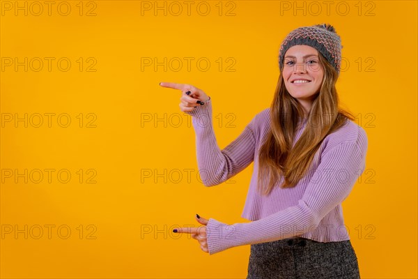
[[[306,112],[319,93],[323,81],[318,50],[309,45],[294,45],[284,54],[283,79],[287,91],[296,98]],[[302,83],[295,82],[302,80]],[[303,80],[308,82],[303,82]]]

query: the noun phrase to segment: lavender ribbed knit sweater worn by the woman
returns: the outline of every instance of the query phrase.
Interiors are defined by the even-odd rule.
[[[341,202],[364,172],[368,142],[364,129],[347,120],[343,127],[325,137],[309,172],[295,187],[275,187],[266,197],[256,193],[256,178],[258,151],[270,127],[269,112],[270,108],[256,114],[223,150],[219,149],[213,131],[212,99],[187,112],[192,116],[197,162],[205,186],[226,181],[254,161],[242,212],[242,218],[253,222],[226,225],[210,218],[206,226],[210,255],[235,246],[291,237],[320,242],[350,239]],[[307,125],[306,120],[300,121],[293,144]]]

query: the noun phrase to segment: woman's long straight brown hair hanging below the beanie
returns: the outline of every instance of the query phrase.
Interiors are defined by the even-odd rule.
[[[355,119],[353,114],[339,107],[335,68],[320,52],[318,56],[324,71],[323,82],[306,116],[307,125],[294,146],[295,129],[299,119],[304,118],[304,111],[286,89],[282,75],[284,66],[280,69],[270,106],[270,130],[258,154],[258,190],[263,195],[268,195],[281,177],[284,178],[281,188],[294,187],[309,169],[324,138],[343,126],[346,119]]]

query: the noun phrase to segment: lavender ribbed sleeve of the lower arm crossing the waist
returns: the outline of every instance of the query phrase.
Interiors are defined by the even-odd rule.
[[[356,142],[342,142],[322,154],[297,205],[251,223],[226,225],[210,218],[206,226],[209,254],[234,246],[286,239],[314,229],[348,197],[358,176],[364,172],[364,162]]]

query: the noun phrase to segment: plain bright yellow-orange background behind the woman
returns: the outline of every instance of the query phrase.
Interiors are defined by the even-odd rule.
[[[26,3],[28,15],[15,15],[16,3]],[[203,186],[180,91],[159,82],[193,84],[211,96],[224,148],[270,106],[286,34],[323,22],[342,39],[341,105],[369,137],[366,171],[343,202],[362,278],[417,278],[417,1],[346,1],[347,15],[341,1],[329,14],[322,4],[318,15],[309,1],[297,1],[305,8],[295,11],[293,1],[206,1],[208,15],[201,1],[190,15],[183,1],[180,15],[171,1],[167,15],[154,15],[164,1],[67,1],[68,15],[66,3],[55,1],[51,15],[39,3],[42,13],[31,1],[1,1],[1,278],[245,278],[249,246],[208,255],[171,229],[198,227],[196,213],[248,222],[240,215],[252,164],[222,185]],[[16,70],[14,59],[25,57],[28,70]],[[55,59],[50,71],[46,57]],[[194,59],[189,69],[185,57]],[[167,69],[144,65],[164,58]],[[63,68],[71,62],[67,71],[59,59]],[[14,122],[24,114],[27,128]],[[164,114],[167,127],[154,123]],[[15,169],[23,174],[17,183]],[[51,183],[45,169],[54,169]],[[28,226],[27,239],[6,233],[15,225]]]

